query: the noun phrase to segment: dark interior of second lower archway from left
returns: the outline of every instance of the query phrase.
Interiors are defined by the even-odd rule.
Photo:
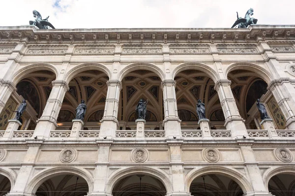
[[[43,182],[35,194],[36,196],[86,196],[88,191],[89,187],[84,178],[62,174]]]

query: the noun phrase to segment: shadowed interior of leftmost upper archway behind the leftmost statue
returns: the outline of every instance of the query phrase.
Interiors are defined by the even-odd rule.
[[[27,109],[20,119],[22,126],[19,129],[34,130],[36,120],[42,116],[52,89],[51,82],[55,78],[55,73],[46,70],[32,72],[22,78],[16,85],[16,92],[11,94],[0,114],[0,130],[5,130],[8,120],[15,116],[11,110],[16,110],[22,99],[26,99]],[[31,120],[28,121],[29,119]]]

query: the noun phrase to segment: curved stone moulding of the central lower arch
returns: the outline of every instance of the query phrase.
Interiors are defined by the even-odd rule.
[[[106,192],[112,193],[116,183],[123,179],[124,177],[127,177],[129,175],[136,175],[136,174],[147,174],[152,177],[155,177],[156,179],[160,180],[160,182],[163,183],[163,185],[166,188],[167,193],[171,193],[173,191],[172,182],[168,176],[168,174],[162,172],[159,169],[153,169],[148,167],[129,167],[125,169],[120,169],[109,177],[107,183],[106,183]]]

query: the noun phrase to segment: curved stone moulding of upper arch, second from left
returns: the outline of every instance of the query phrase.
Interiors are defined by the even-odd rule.
[[[72,69],[70,69],[64,76],[64,80],[69,83],[71,81],[71,79],[73,79],[75,77],[75,75],[77,75],[80,72],[84,72],[87,70],[98,70],[101,71],[103,73],[106,73],[108,75],[109,78],[111,78],[111,72],[110,70],[103,64],[100,63],[83,63],[80,65],[77,65],[75,67],[73,67]]]

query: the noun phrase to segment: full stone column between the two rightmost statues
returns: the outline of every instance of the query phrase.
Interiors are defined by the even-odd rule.
[[[232,93],[231,81],[228,79],[220,79],[215,83],[214,89],[218,93],[225,117],[224,126],[231,130],[232,137],[242,138],[243,135],[247,135],[244,120],[239,115],[236,100]]]

